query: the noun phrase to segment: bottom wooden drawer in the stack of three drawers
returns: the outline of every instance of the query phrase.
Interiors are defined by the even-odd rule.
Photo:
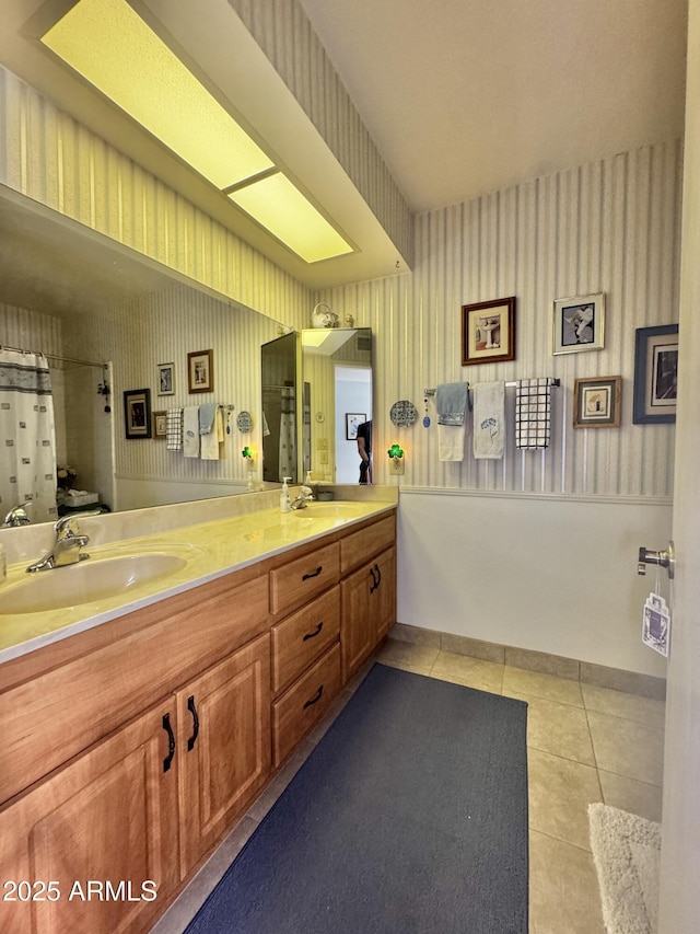
[[[340,645],[336,644],[272,704],[272,749],[276,768],[318,723],[339,690]]]

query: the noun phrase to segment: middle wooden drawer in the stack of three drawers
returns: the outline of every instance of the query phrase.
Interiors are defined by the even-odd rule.
[[[337,587],[322,593],[271,629],[272,693],[279,694],[338,641],[340,599]]]

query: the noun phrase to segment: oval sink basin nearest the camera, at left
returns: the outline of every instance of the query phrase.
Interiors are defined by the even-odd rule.
[[[27,574],[24,580],[0,591],[0,613],[40,613],[92,603],[167,577],[186,564],[187,560],[179,554],[149,552],[88,558],[67,567]]]

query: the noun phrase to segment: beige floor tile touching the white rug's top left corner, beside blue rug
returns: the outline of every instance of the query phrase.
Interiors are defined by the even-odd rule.
[[[588,805],[603,798],[597,771],[529,749],[527,777],[530,830],[590,850]]]

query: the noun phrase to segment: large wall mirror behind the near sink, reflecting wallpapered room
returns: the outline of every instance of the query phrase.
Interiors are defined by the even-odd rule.
[[[71,466],[74,487],[97,493],[107,508],[262,484],[260,347],[281,331],[277,321],[0,186],[0,345],[48,356],[57,463]],[[209,351],[212,383],[200,392],[189,380],[188,355]],[[129,438],[124,394],[138,390],[149,394],[148,437]],[[171,450],[163,414],[207,403],[223,406],[219,459]],[[256,453],[254,471],[242,457],[245,446]],[[19,504],[7,485],[0,496],[2,522]]]

